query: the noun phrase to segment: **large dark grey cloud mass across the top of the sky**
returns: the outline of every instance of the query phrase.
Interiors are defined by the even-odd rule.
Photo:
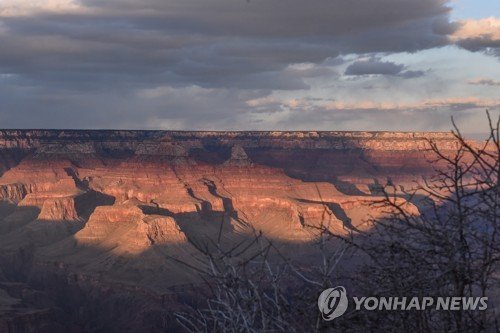
[[[446,26],[449,10],[443,0],[7,0],[0,72],[77,91],[309,89],[312,74],[293,65],[443,45],[434,22]]]

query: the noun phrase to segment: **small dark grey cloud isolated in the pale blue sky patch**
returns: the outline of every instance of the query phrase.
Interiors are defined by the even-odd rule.
[[[345,70],[345,75],[391,75],[400,76],[405,79],[420,77],[423,71],[404,70],[406,66],[390,61],[382,61],[377,58],[359,60],[350,64]]]

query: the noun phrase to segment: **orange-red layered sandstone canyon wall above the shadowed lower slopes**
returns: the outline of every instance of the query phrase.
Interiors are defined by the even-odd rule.
[[[1,146],[25,157],[3,162],[0,198],[38,208],[40,221],[88,219],[76,237],[88,242],[115,224],[130,224],[135,236],[123,242],[141,249],[150,232],[154,242],[186,239],[162,233],[176,230],[176,216],[208,229],[223,216],[234,232],[308,241],[315,236],[304,226],[325,219],[339,232],[348,220],[359,225],[364,196],[376,197],[389,178],[406,184],[431,172],[422,150],[429,138],[443,149],[456,144],[445,133],[4,130]],[[197,160],[200,152],[220,162]],[[80,213],[77,198],[91,192],[115,204],[86,203]],[[141,206],[163,217],[148,226]]]

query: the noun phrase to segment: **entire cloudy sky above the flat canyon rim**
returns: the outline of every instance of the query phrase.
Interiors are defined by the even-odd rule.
[[[0,128],[486,130],[496,0],[0,0]]]

